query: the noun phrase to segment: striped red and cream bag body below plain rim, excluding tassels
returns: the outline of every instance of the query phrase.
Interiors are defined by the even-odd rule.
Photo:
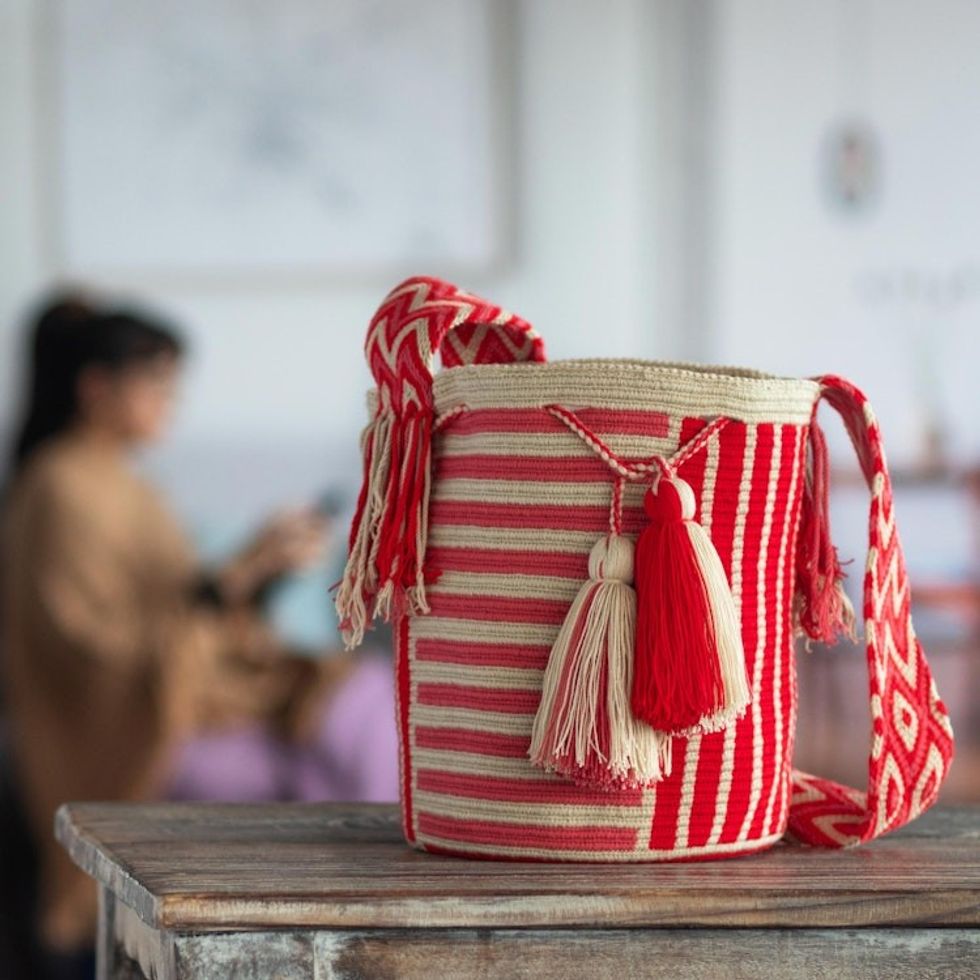
[[[579,399],[569,392],[568,401]],[[706,406],[710,412],[710,406]],[[620,454],[671,456],[704,424],[594,406]],[[497,856],[650,860],[756,850],[782,835],[795,717],[789,611],[806,427],[730,423],[679,467],[741,612],[752,705],[678,737],[655,787],[576,786],[526,758],[548,655],[607,529],[609,468],[544,410],[472,410],[436,439],[428,615],[399,645],[406,832]],[[624,533],[647,522],[624,488]]]

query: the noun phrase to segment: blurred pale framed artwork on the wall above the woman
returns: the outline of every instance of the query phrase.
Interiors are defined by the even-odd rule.
[[[491,0],[48,0],[53,264],[114,278],[493,266]]]

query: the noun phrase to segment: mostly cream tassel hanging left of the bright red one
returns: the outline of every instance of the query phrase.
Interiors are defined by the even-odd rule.
[[[548,658],[528,755],[582,786],[648,786],[670,774],[670,740],[630,709],[636,630],[633,542],[609,534]]]

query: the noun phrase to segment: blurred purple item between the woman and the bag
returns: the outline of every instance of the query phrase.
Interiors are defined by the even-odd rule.
[[[201,735],[178,753],[171,800],[398,799],[392,668],[364,657],[326,703],[314,737],[287,743],[254,725]]]

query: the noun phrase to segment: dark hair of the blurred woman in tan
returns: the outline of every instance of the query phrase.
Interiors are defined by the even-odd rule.
[[[28,335],[25,405],[9,475],[42,443],[64,432],[78,414],[78,380],[89,367],[118,371],[161,354],[178,357],[183,343],[169,326],[131,310],[100,310],[64,294],[32,318]]]

